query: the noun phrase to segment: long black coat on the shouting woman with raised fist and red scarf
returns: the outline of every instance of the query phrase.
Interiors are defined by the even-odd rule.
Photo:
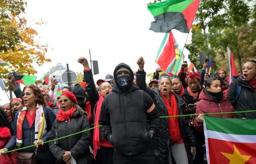
[[[136,84],[137,86],[146,91],[154,100],[154,104],[157,106],[157,109],[161,116],[168,116],[167,108],[165,102],[159,92],[158,89],[150,89],[146,85],[146,72],[145,71],[138,71],[136,72]],[[185,102],[175,94],[176,102],[178,105],[179,114],[184,114],[186,111]],[[179,117],[179,127],[182,138],[184,140],[184,144],[187,151],[188,161],[192,163],[190,147],[195,146],[197,144],[196,138],[192,129],[188,125],[187,117]],[[168,151],[169,146],[174,144],[170,140],[170,133],[169,133],[169,121],[168,118],[161,118],[161,123],[159,127],[159,133],[157,138],[154,140],[154,149],[160,151],[159,156],[159,164],[167,164],[168,163]]]

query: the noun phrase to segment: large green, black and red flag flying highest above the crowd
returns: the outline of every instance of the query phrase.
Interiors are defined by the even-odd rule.
[[[155,32],[170,32],[176,29],[189,33],[196,15],[200,0],[166,0],[148,6],[154,16],[149,30]]]

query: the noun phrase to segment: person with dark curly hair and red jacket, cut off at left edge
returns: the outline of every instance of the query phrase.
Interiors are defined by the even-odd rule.
[[[0,149],[11,139],[10,123],[3,109],[0,107]],[[16,164],[16,153],[0,156],[0,164]]]

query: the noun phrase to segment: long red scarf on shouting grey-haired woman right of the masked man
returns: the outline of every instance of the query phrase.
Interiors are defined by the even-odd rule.
[[[170,102],[162,93],[161,93],[163,100],[165,101],[165,105],[167,108],[168,116],[177,116],[179,115],[178,112],[178,105],[176,102],[175,95],[170,93]],[[178,142],[182,140],[181,133],[180,133],[180,126],[179,126],[179,118],[178,117],[169,117],[169,133],[170,139],[173,142]]]

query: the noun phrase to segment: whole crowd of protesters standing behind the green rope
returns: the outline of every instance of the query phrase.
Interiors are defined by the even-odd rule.
[[[200,74],[188,72],[185,62],[178,75],[156,69],[148,85],[142,57],[138,71],[120,63],[97,85],[87,59],[78,63],[83,81],[63,88],[58,100],[56,79],[49,90],[21,90],[8,76],[16,98],[0,107],[0,164],[204,164],[204,113],[256,118],[255,112],[225,113],[256,109],[256,60],[244,63],[230,85],[225,70],[206,73],[208,62]],[[34,144],[40,145],[4,153]]]

